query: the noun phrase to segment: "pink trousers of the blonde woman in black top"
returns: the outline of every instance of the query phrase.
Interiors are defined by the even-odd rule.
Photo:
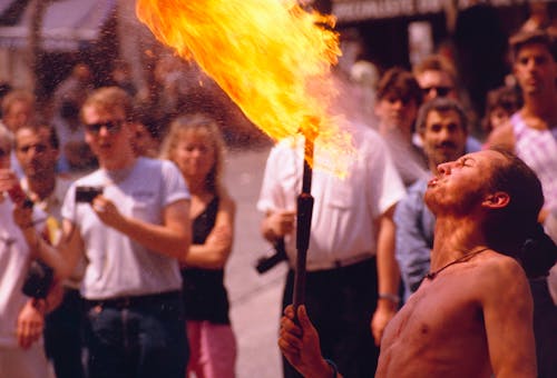
[[[193,320],[186,326],[190,352],[186,377],[194,372],[197,378],[234,378],[236,338],[232,327]]]

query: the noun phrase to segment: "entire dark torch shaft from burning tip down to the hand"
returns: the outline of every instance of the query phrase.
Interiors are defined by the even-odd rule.
[[[302,192],[297,196],[296,212],[296,271],[294,276],[294,309],[305,302],[305,261],[310,246],[310,233],[313,211],[312,168],[307,162],[313,157],[313,141],[305,139],[304,146],[304,171],[302,177]]]

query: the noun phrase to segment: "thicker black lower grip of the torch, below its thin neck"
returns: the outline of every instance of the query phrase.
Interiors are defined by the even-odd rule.
[[[297,197],[296,217],[296,271],[294,276],[294,309],[305,302],[305,260],[310,246],[310,232],[312,223],[313,197],[309,192],[302,192]]]

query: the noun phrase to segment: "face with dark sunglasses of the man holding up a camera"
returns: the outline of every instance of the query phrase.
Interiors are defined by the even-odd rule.
[[[82,116],[85,140],[99,160],[118,159],[123,147],[130,148],[131,132],[123,110],[110,113],[90,105]]]

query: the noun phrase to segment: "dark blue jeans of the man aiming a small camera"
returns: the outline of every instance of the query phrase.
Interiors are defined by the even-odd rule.
[[[184,378],[189,349],[179,291],[89,301],[89,378]]]

